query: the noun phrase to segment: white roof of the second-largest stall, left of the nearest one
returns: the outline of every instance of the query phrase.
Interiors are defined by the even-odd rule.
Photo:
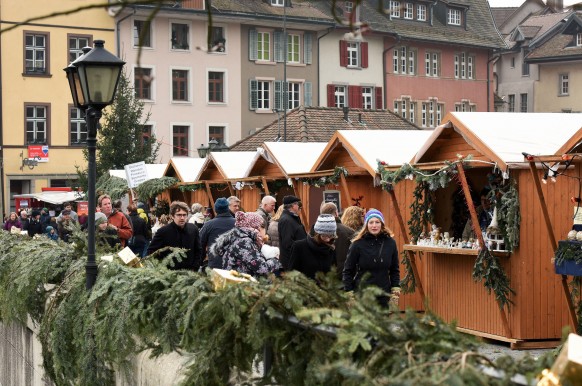
[[[378,160],[387,165],[400,166],[410,162],[421,144],[426,142],[433,130],[339,130],[338,135],[347,142],[365,162],[362,167],[369,171],[378,169]],[[356,160],[357,162],[357,160]]]

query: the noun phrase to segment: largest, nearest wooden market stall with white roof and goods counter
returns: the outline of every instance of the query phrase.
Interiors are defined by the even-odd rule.
[[[556,345],[562,327],[573,326],[561,280],[551,263],[554,248],[537,190],[541,189],[551,203],[547,217],[556,233],[564,234],[572,226],[569,194],[579,188],[578,181],[564,178],[538,188],[530,162],[522,153],[568,152],[582,140],[581,127],[580,114],[455,112],[447,114],[421,147],[408,173],[434,185],[435,190],[426,193],[434,200],[434,224],[451,234],[458,232],[455,212],[461,196],[473,224],[477,224],[473,226],[477,234],[473,244],[478,240],[480,246],[471,249],[456,244],[447,249],[419,245],[422,242],[405,246],[425,256],[424,291],[437,315],[456,320],[463,331],[510,342],[514,348]],[[540,167],[534,172],[541,175],[543,170]],[[396,175],[391,174],[391,178]],[[504,244],[490,245],[489,249],[509,249],[511,238],[511,253],[485,248],[489,241],[483,240],[472,194],[484,186],[493,189],[494,202],[502,208],[499,217],[507,219],[502,227]],[[517,221],[516,212],[521,221]],[[473,275],[481,281],[476,282]],[[504,278],[514,293],[504,287]],[[511,304],[503,303],[505,297]]]

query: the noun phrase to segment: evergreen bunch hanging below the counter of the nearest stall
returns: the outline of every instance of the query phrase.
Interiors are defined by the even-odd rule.
[[[475,260],[473,280],[483,281],[487,292],[493,291],[495,293],[495,299],[500,308],[507,306],[509,309],[509,305],[513,304],[510,296],[515,294],[515,291],[510,286],[509,277],[499,263],[499,259],[493,256],[487,248],[482,248]]]

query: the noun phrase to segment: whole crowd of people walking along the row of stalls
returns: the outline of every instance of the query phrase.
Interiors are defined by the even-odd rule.
[[[163,260],[171,248],[182,248],[183,254],[166,260],[169,269],[197,271],[208,266],[254,277],[295,270],[316,281],[333,269],[346,291],[374,285],[385,294],[378,297],[380,304],[397,305],[398,251],[380,211],[351,206],[340,218],[337,206],[324,202],[307,230],[301,210],[298,197],[285,196],[277,208],[276,199],[267,195],[256,211],[244,212],[240,199],[231,196],[217,199],[214,211],[199,203],[189,207],[174,201],[170,213],[158,218],[142,203],[130,203],[124,211],[120,201],[102,195],[97,200],[96,237],[111,247],[127,246],[142,258]],[[51,217],[47,208],[10,213],[3,229],[68,242],[73,223],[86,228],[87,216],[79,216],[66,203],[58,216]]]

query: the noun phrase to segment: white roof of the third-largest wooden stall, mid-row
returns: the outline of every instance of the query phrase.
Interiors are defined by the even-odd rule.
[[[279,165],[286,176],[308,173],[326,145],[326,142],[265,142],[264,157]]]

